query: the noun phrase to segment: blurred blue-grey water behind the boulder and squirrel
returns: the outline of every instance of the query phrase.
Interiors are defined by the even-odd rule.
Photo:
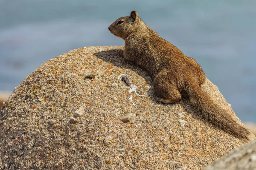
[[[255,0],[0,0],[0,91],[74,48],[124,45],[108,26],[132,10],[195,58],[242,122],[256,122]]]

